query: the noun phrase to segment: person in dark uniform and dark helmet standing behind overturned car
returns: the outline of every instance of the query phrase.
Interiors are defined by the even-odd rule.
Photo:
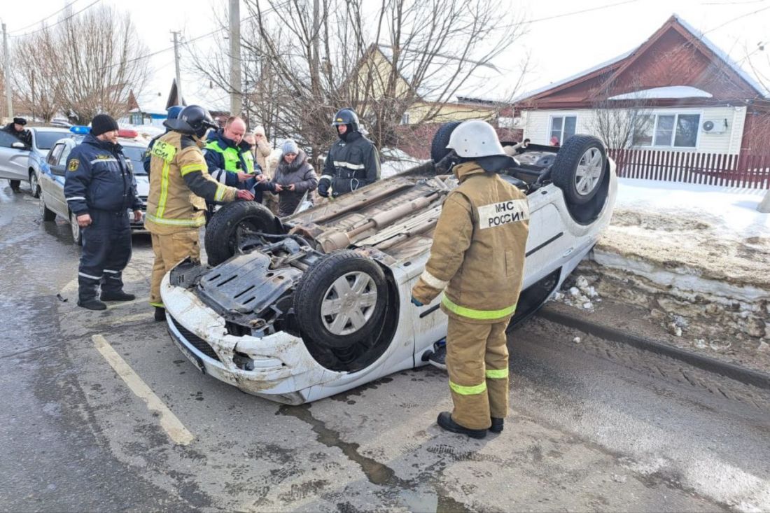
[[[340,140],[326,156],[318,193],[336,198],[380,179],[380,156],[374,143],[359,131],[358,115],[353,109],[337,111],[332,126],[336,126]]]

